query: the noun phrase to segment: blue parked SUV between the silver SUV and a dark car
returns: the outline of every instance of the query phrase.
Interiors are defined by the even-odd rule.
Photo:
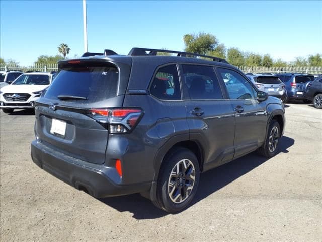
[[[306,83],[314,80],[313,75],[300,73],[276,74],[285,84],[286,98],[285,103],[290,100],[302,100],[305,103],[311,102],[304,96]]]

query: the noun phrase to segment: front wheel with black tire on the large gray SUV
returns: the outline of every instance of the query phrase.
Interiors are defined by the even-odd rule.
[[[277,129],[277,131],[276,131],[276,129]],[[277,134],[277,137],[275,136],[275,134]],[[276,155],[278,152],[278,143],[279,143],[280,138],[281,138],[280,125],[276,120],[273,119],[270,124],[270,127],[268,129],[267,137],[265,139],[263,146],[258,148],[258,150],[257,150],[258,153],[261,156],[264,156],[267,158],[271,158],[274,155]]]

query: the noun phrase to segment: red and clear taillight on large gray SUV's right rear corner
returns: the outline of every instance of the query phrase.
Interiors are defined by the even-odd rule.
[[[143,116],[140,108],[92,108],[88,116],[101,123],[110,134],[131,132]]]

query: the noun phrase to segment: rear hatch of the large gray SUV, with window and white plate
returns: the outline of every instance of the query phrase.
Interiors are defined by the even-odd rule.
[[[107,117],[97,110],[122,107],[129,64],[69,61],[35,107],[40,142],[68,156],[103,164],[108,143]]]

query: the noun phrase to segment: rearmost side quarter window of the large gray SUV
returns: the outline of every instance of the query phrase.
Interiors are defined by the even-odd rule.
[[[180,100],[180,84],[176,65],[160,68],[150,87],[151,95],[162,100]]]

